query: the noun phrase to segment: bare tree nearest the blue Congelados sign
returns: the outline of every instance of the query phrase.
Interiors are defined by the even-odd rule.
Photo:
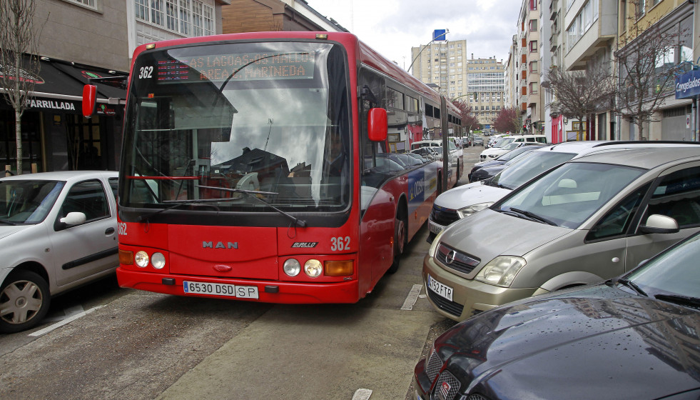
[[[660,24],[640,26],[629,18],[627,36],[619,43],[616,52],[619,71],[617,112],[630,119],[644,139],[644,125],[654,119],[669,93],[674,89],[676,47],[681,36],[689,33],[678,26],[662,29]]]

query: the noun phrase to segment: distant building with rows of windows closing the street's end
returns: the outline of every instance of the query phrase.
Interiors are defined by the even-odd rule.
[[[467,60],[467,98],[484,129],[490,129],[505,106],[505,66],[495,57]]]

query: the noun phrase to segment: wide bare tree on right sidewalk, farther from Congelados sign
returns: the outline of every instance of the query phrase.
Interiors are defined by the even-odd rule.
[[[612,109],[617,93],[614,76],[604,64],[589,64],[579,71],[552,66],[542,86],[554,94],[552,109],[569,119],[578,119],[581,126],[587,116]]]

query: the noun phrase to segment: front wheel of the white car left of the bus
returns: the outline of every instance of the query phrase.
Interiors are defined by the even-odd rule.
[[[14,271],[0,287],[0,333],[24,331],[49,311],[49,284],[32,271]]]

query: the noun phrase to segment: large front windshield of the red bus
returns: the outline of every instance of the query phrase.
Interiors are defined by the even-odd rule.
[[[345,60],[338,45],[305,41],[143,51],[127,101],[120,206],[347,209]]]

